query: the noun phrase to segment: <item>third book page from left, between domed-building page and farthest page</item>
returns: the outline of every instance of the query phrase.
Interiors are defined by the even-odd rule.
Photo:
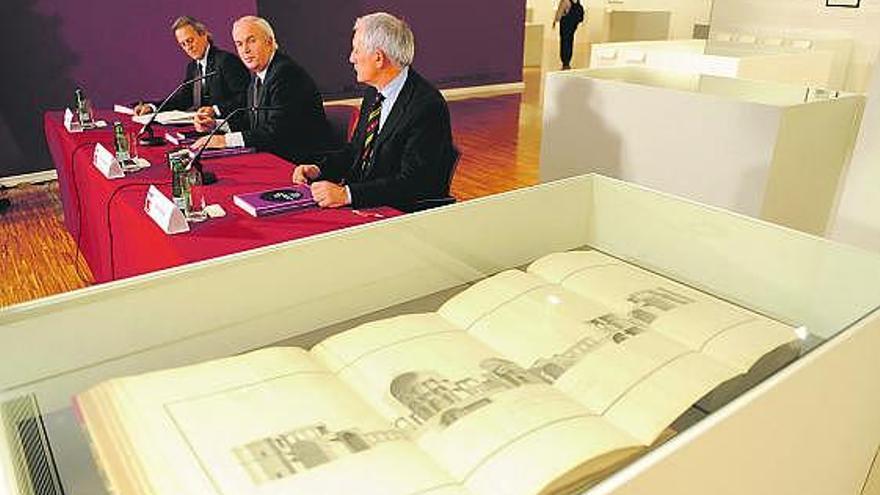
[[[703,395],[738,374],[559,285],[524,282],[537,278],[504,272],[459,293],[438,313],[471,322],[471,335],[645,445]],[[491,311],[480,310],[479,301],[495,286],[498,292],[525,289]]]

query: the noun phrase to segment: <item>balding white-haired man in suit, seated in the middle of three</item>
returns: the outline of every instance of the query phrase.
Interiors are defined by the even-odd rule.
[[[321,94],[308,73],[278,51],[272,26],[245,16],[235,21],[232,38],[245,67],[253,74],[247,90],[249,110],[233,118],[231,131],[211,138],[208,147],[254,146],[292,161],[314,160],[330,145],[330,128]],[[223,117],[223,114],[219,115]],[[196,128],[207,130],[218,116],[210,109],[196,115]],[[198,149],[207,138],[193,145]]]

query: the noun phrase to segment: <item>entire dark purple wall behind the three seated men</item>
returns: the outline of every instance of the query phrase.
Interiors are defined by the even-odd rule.
[[[348,63],[351,27],[365,13],[405,18],[416,35],[414,66],[440,87],[522,79],[525,0],[2,0],[0,176],[53,168],[42,115],[82,86],[97,106],[161,98],[183,77],[185,55],[169,26],[201,18],[218,46],[232,48],[231,25],[258,12],[314,77],[325,98],[360,92]],[[198,8],[197,8],[198,7]]]

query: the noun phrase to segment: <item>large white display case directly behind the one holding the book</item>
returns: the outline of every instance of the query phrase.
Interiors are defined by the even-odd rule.
[[[863,104],[635,67],[553,72],[541,180],[595,172],[821,234]]]

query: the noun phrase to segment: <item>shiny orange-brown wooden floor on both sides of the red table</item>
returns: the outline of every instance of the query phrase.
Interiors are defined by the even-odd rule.
[[[452,193],[468,200],[538,181],[540,70],[526,69],[522,94],[450,102],[462,152]],[[89,268],[65,230],[57,183],[6,191],[0,216],[0,307],[86,287]]]

